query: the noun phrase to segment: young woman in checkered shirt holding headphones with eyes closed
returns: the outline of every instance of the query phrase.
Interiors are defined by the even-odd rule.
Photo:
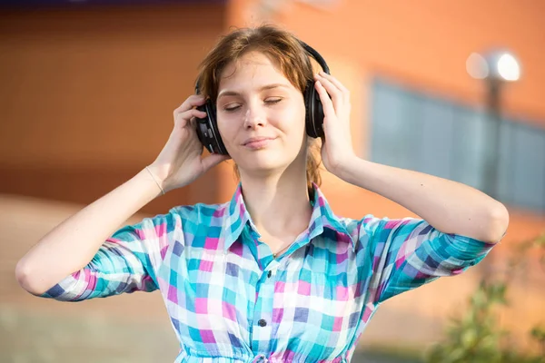
[[[203,95],[174,111],[157,159],[45,235],[17,265],[22,287],[72,301],[160,289],[176,362],[348,362],[382,301],[481,261],[507,229],[505,207],[461,183],[358,158],[350,94],[313,74],[305,45],[272,26],[223,37],[203,61]],[[209,116],[229,156],[202,157],[197,122]],[[422,220],[337,217],[318,186],[312,123],[323,127],[329,172]],[[240,175],[231,201],[115,231],[229,157]]]

